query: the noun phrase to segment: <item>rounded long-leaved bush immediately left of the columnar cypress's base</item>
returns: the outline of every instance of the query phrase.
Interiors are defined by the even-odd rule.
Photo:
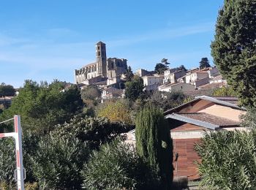
[[[147,171],[134,147],[120,140],[91,153],[82,171],[85,189],[138,189]],[[140,178],[138,178],[140,177]],[[144,181],[145,182],[145,181]]]

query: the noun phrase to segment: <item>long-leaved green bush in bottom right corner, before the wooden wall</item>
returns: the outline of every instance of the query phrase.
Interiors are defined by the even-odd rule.
[[[204,134],[195,149],[202,158],[200,186],[208,189],[256,188],[256,130]]]

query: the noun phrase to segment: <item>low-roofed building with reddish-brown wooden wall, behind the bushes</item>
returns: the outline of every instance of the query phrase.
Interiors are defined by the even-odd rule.
[[[243,130],[239,126],[240,115],[246,112],[239,107],[235,97],[197,96],[191,102],[165,112],[173,138],[175,177],[200,178],[195,161],[200,161],[194,150],[195,143],[208,131]]]

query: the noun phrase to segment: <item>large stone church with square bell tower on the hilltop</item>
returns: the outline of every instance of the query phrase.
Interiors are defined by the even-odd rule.
[[[106,45],[103,42],[97,42],[95,48],[96,61],[75,69],[75,83],[91,85],[105,82],[110,86],[121,81],[121,75],[127,72],[127,59],[107,58]]]

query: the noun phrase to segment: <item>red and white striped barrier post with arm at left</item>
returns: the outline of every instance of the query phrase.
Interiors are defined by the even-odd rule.
[[[14,118],[14,129],[15,132],[0,133],[1,137],[13,137],[15,139],[15,153],[16,153],[16,167],[15,179],[17,180],[17,189],[24,190],[24,168],[23,168],[23,153],[22,153],[22,138],[21,138],[21,125],[20,115],[15,115]],[[7,121],[10,121],[9,119]],[[4,122],[7,122],[4,121]],[[4,123],[1,122],[1,123]]]

